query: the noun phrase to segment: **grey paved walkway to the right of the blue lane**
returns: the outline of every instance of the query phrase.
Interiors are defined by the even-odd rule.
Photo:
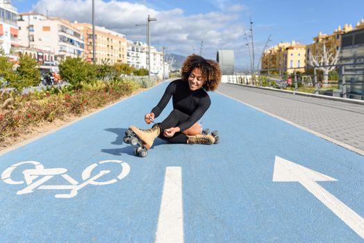
[[[363,105],[228,83],[218,91],[364,151]]]

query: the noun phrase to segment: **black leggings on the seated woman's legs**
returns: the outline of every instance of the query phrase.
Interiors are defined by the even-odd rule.
[[[174,133],[173,137],[165,137],[163,136],[164,129],[172,128],[175,126],[178,126],[179,124],[185,122],[188,120],[190,116],[186,115],[185,113],[179,111],[179,110],[172,110],[171,113],[169,113],[168,117],[164,119],[161,123],[158,125],[160,126],[160,133],[159,138],[166,140],[172,144],[187,144],[187,136],[184,133]]]

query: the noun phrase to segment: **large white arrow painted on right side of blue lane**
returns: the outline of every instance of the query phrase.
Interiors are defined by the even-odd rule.
[[[344,221],[347,226],[364,239],[364,219],[316,183],[316,181],[338,181],[335,178],[320,174],[317,171],[276,156],[273,181],[301,183],[308,192],[316,196],[327,208]]]

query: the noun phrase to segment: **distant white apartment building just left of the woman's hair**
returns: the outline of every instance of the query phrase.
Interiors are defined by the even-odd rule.
[[[151,52],[151,74],[156,74],[160,77],[165,72],[165,77],[169,74],[169,65],[167,62],[163,62],[163,52],[157,51],[156,47],[150,47]],[[148,69],[148,45],[142,42],[127,42],[127,61],[128,64],[136,69],[144,68]],[[164,65],[164,69],[163,69]]]

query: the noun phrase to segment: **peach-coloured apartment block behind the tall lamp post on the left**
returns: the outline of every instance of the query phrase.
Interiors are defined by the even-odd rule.
[[[85,58],[92,62],[92,24],[74,23],[78,31],[85,38]],[[109,65],[115,63],[127,63],[126,60],[126,37],[107,28],[95,26],[95,59],[97,64],[107,62]]]

